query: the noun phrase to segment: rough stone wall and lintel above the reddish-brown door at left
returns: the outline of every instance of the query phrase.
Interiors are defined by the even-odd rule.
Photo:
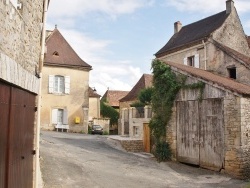
[[[0,78],[38,93],[35,73],[40,58],[43,2],[21,3],[19,10],[9,0],[0,1]]]

